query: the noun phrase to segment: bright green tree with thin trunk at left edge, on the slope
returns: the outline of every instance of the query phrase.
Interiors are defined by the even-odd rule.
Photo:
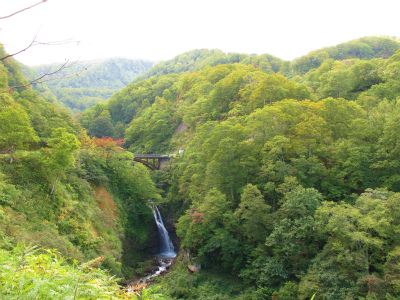
[[[17,104],[0,110],[0,145],[10,151],[10,164],[16,148],[23,148],[29,143],[38,142],[28,114]]]

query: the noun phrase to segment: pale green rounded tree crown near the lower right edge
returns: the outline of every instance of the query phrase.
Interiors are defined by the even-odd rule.
[[[320,230],[330,234],[337,262],[348,268],[347,272],[369,274],[373,260],[382,259],[378,258],[379,253],[390,241],[392,221],[385,204],[387,197],[385,190],[367,189],[354,206],[326,202],[318,209],[316,218],[320,220]]]

